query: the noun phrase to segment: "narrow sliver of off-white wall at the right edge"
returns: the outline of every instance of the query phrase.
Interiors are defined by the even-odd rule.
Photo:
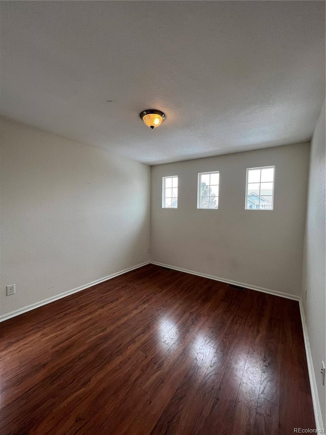
[[[326,363],[325,258],[325,103],[311,141],[307,218],[304,244],[302,299],[323,425],[326,427],[325,386],[320,374]],[[307,289],[307,300],[305,300]]]

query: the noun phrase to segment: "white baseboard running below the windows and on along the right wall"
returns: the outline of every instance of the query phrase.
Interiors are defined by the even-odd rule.
[[[278,292],[276,290],[265,289],[263,287],[251,286],[249,284],[239,283],[237,281],[231,281],[229,279],[220,278],[218,276],[207,275],[205,273],[194,272],[193,270],[182,269],[181,267],[175,267],[175,266],[171,266],[168,264],[158,263],[158,262],[154,262],[154,261],[151,261],[150,263],[155,264],[156,266],[168,267],[169,269],[178,270],[180,272],[190,273],[192,275],[197,275],[197,276],[202,276],[204,278],[214,279],[216,281],[221,281],[222,283],[234,284],[236,286],[241,286],[241,287],[244,287],[246,289],[257,290],[258,292],[268,293],[268,294],[271,294],[274,296],[281,296],[281,297],[284,297],[287,299],[297,300],[299,302],[299,306],[300,306],[301,323],[302,323],[302,329],[303,329],[303,335],[304,335],[304,341],[305,341],[305,350],[306,350],[306,357],[307,357],[310,389],[311,389],[311,396],[312,396],[312,402],[313,402],[313,407],[314,407],[314,416],[315,416],[316,428],[320,429],[320,432],[323,433],[322,430],[324,430],[324,427],[323,427],[323,421],[322,421],[322,417],[321,417],[321,408],[320,408],[320,402],[319,402],[319,398],[318,398],[315,371],[314,371],[313,363],[312,363],[312,355],[311,355],[311,349],[310,349],[310,344],[309,344],[309,337],[308,337],[305,313],[304,313],[304,309],[303,309],[302,298],[300,296],[294,296],[294,295],[291,295],[288,293]]]

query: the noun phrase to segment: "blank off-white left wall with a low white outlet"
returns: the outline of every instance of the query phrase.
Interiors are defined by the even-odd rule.
[[[149,260],[149,166],[1,121],[2,315]]]

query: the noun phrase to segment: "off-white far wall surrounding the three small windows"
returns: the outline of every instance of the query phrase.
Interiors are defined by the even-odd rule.
[[[273,211],[244,210],[246,169],[275,165]],[[151,259],[300,295],[309,143],[152,167]],[[197,210],[198,172],[220,171],[219,210]],[[162,176],[179,176],[162,209]]]

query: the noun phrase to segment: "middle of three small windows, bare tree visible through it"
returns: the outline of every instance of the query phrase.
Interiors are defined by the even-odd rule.
[[[201,172],[198,174],[198,209],[219,208],[220,172]]]

